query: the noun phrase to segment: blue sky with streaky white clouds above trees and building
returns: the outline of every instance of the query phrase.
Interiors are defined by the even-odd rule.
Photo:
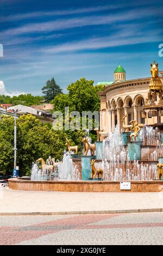
[[[153,60],[163,70],[162,13],[160,0],[0,0],[3,91],[41,95],[52,77],[64,92],[81,77],[112,81],[119,63],[127,80],[149,77]]]

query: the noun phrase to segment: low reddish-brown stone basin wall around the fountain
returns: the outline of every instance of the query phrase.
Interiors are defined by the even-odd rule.
[[[161,192],[163,180],[131,181],[131,190],[120,190],[120,181],[32,181],[9,179],[11,190],[61,192]]]

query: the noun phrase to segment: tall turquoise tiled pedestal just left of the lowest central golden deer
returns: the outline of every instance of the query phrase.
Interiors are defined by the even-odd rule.
[[[82,180],[89,180],[91,176],[91,159],[96,159],[96,157],[82,156]]]

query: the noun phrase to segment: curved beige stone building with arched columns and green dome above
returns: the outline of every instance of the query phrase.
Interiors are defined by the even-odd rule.
[[[163,71],[160,71],[160,78],[163,85]],[[118,125],[119,131],[122,131],[123,123],[128,125],[133,119],[139,124],[157,123],[156,117],[151,117],[149,111],[143,110],[150,80],[151,77],[126,80],[126,71],[118,65],[114,72],[114,82],[99,82],[105,85],[103,92],[98,92],[101,100],[100,129],[111,132]],[[163,113],[160,114],[163,123]],[[127,117],[123,120],[124,115]]]

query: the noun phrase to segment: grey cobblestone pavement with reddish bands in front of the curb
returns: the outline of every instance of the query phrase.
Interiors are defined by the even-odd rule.
[[[0,245],[161,245],[163,212],[1,216]]]

